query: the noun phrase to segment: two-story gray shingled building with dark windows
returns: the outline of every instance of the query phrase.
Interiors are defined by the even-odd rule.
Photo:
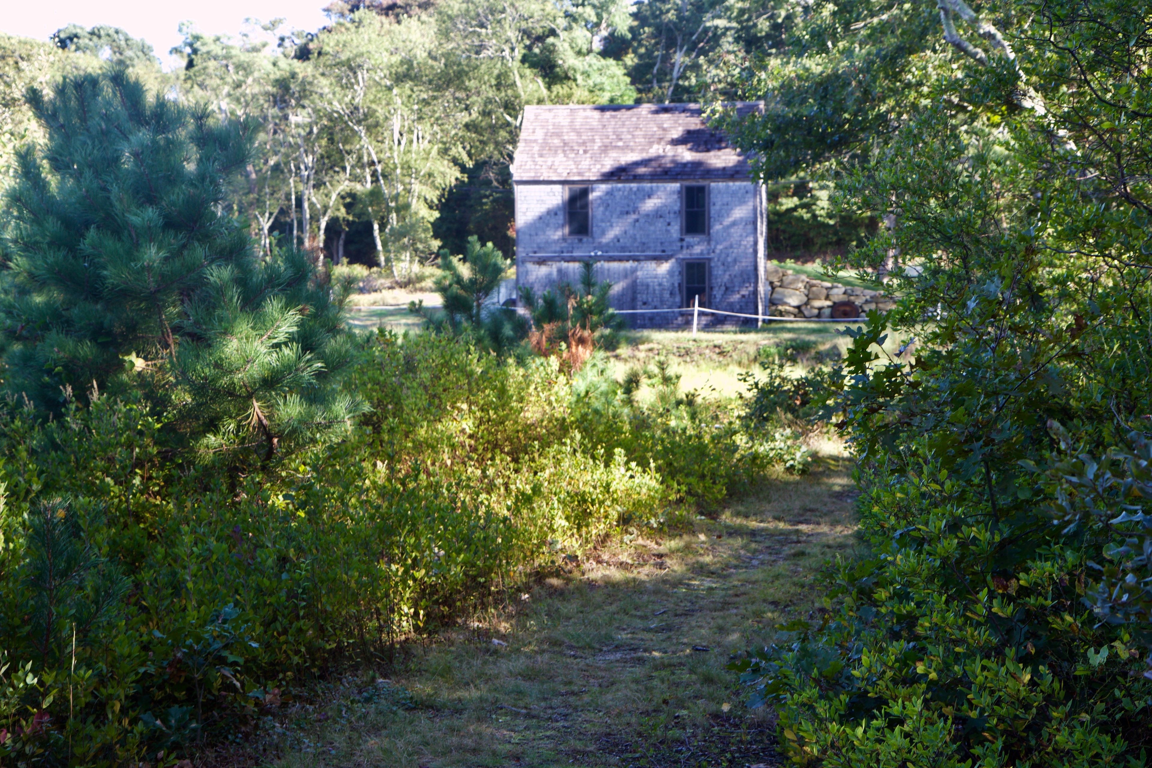
[[[591,259],[617,310],[765,314],[764,188],[699,105],[526,107],[511,170],[517,286],[575,284]]]

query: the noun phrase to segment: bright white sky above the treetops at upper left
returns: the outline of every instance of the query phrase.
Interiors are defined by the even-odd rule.
[[[120,26],[147,40],[168,68],[168,51],[182,39],[176,31],[182,21],[202,32],[234,37],[245,18],[285,18],[288,29],[314,31],[327,23],[326,5],[328,0],[0,0],[0,32],[47,40],[71,23]]]

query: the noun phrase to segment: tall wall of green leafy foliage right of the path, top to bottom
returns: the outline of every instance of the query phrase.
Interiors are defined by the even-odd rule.
[[[918,268],[849,333],[866,552],[737,668],[801,765],[1143,765],[1146,13],[955,5],[817,3],[749,73],[779,85],[745,135],[761,168],[836,170],[893,222],[852,263]]]

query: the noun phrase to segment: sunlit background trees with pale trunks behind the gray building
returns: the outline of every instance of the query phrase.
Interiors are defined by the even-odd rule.
[[[699,100],[718,92],[721,61],[775,45],[781,29],[771,2],[746,0],[335,2],[328,16],[319,31],[272,21],[232,38],[189,26],[172,74],[115,28],[0,38],[0,167],[39,136],[26,86],[123,62],[170,98],[258,126],[233,204],[265,252],[296,243],[408,282],[469,235],[510,253],[524,105]],[[826,196],[783,184],[776,197],[773,248],[843,245]]]

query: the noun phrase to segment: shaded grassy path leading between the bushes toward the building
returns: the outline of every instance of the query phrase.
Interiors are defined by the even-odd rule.
[[[847,461],[781,477],[719,520],[634,540],[547,579],[513,616],[349,679],[278,717],[283,768],[776,765],[768,713],[725,669],[805,616],[852,543]],[[272,758],[271,754],[265,760]]]

